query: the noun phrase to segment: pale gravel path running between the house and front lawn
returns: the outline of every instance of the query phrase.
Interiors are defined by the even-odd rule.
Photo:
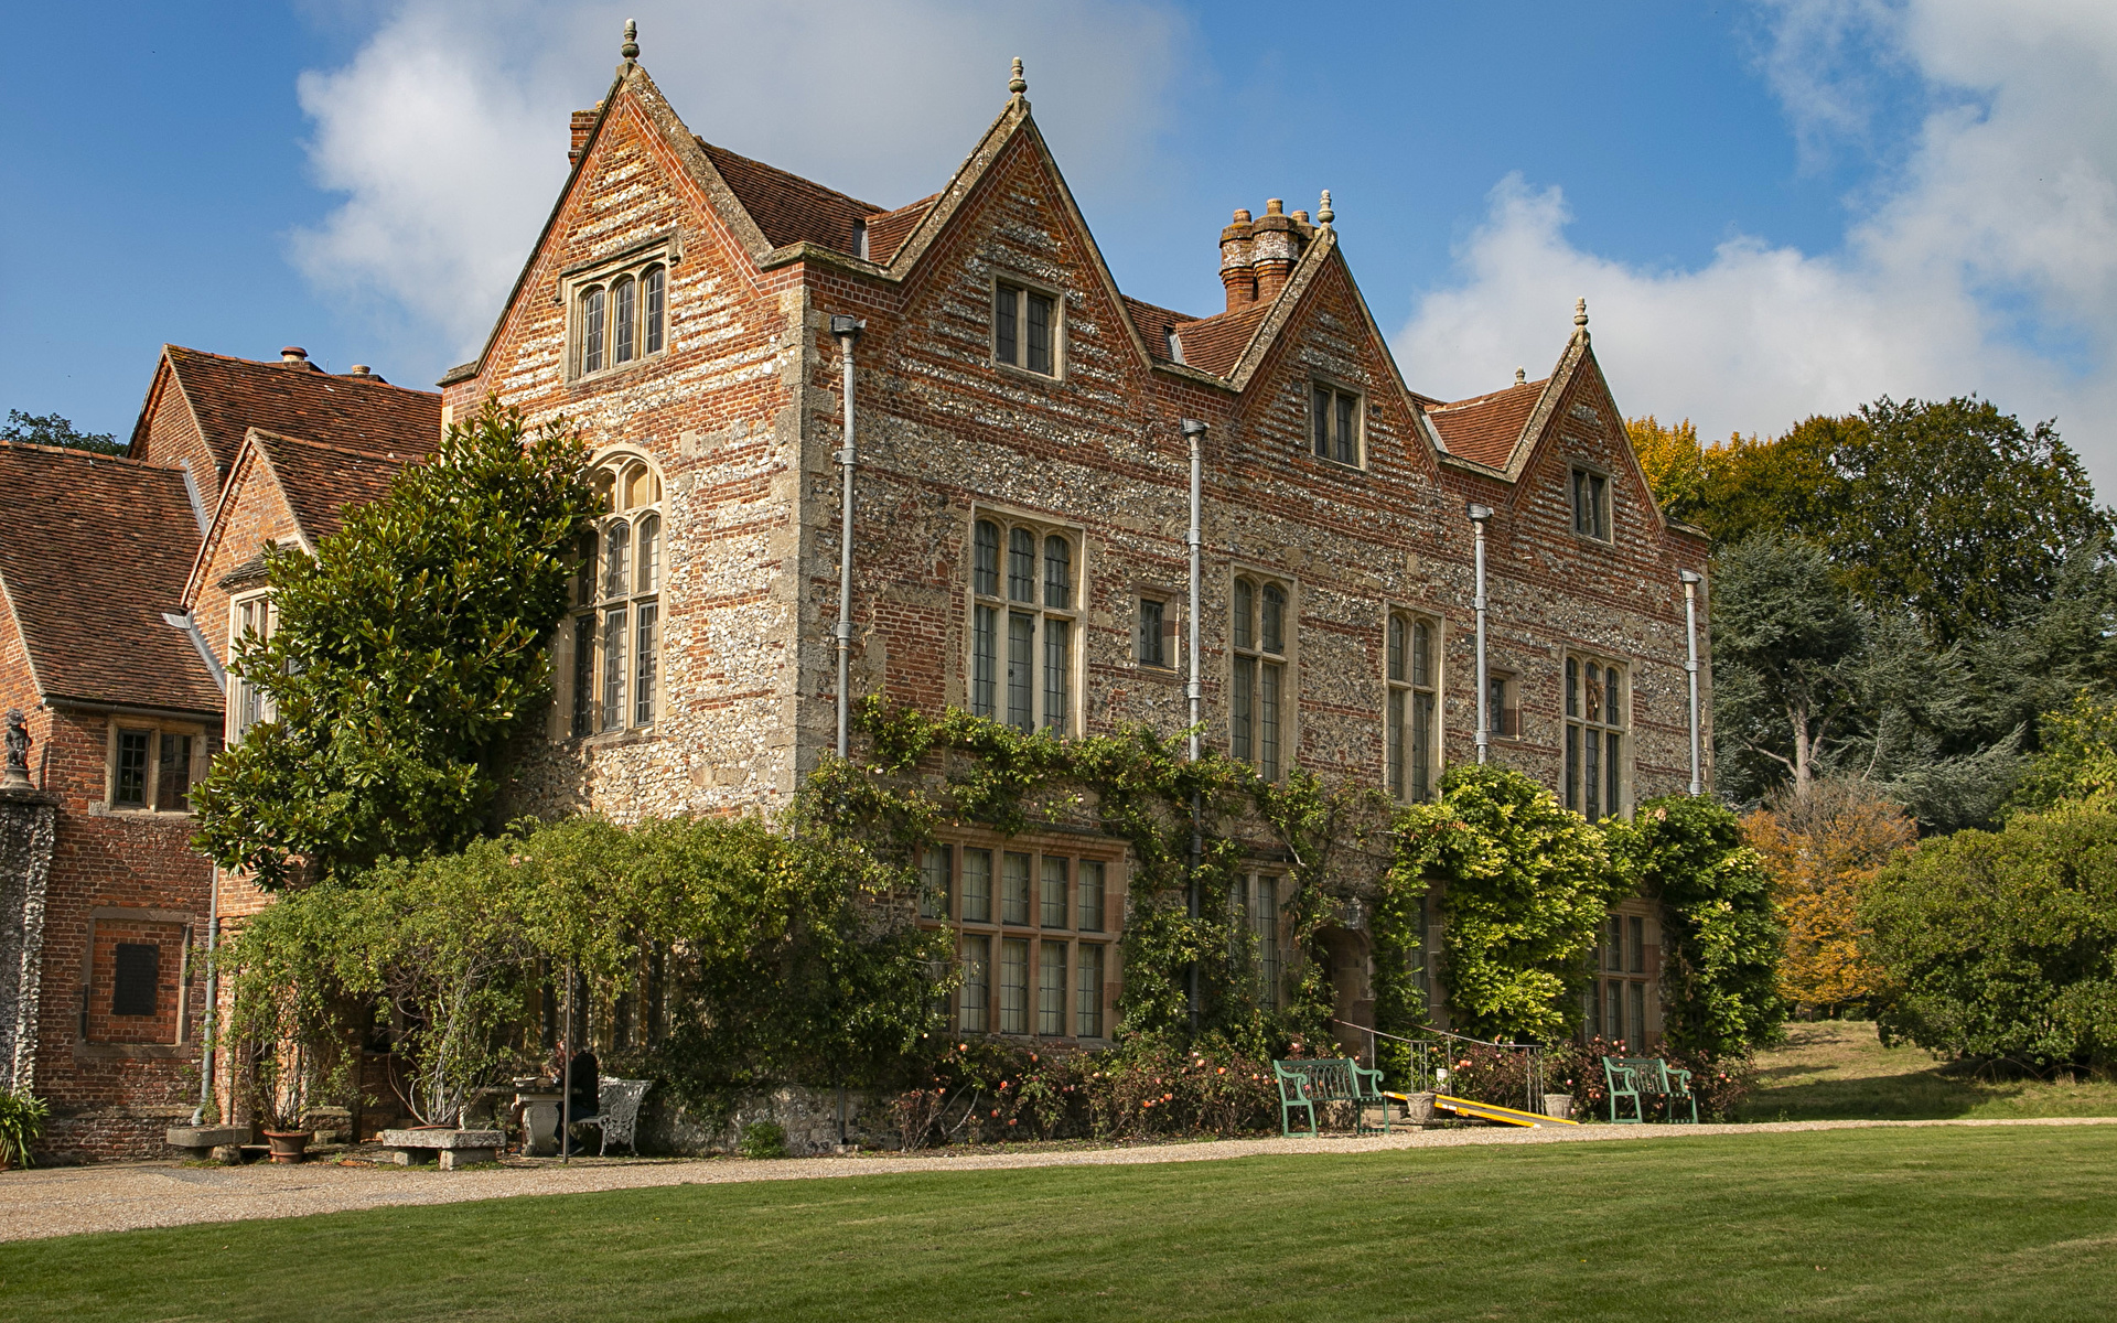
[[[584,1158],[508,1160],[485,1171],[404,1166],[178,1166],[125,1162],[0,1173],[0,1240],[80,1232],[123,1232],[193,1221],[305,1217],[345,1209],[451,1204],[525,1194],[580,1194],[644,1185],[718,1185],[726,1181],[802,1181],[885,1173],[991,1171],[1014,1166],[1130,1166],[1141,1162],[1215,1162],[1264,1154],[1368,1154],[1374,1149],[1461,1147],[1473,1143],[1594,1143],[1605,1139],[1681,1141],[1702,1135],[1787,1135],[1905,1126],[2102,1126],[2117,1118],[1956,1120],[1956,1122],[1772,1122],[1753,1126],[1548,1126],[1535,1130],[1463,1128],[1372,1135],[1365,1139],[1215,1139],[1109,1149],[1031,1149],[989,1154],[855,1158]]]

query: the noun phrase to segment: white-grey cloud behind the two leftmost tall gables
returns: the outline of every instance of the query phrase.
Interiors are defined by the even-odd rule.
[[[1075,186],[1139,176],[1183,34],[1128,0],[406,0],[349,64],[301,78],[311,169],[345,195],[294,235],[303,273],[406,313],[421,343],[400,351],[472,356],[565,178],[567,112],[608,89],[627,17],[694,131],[879,205],[946,182],[999,114],[1012,55],[1033,99],[1052,93],[1037,119],[1082,163]]]

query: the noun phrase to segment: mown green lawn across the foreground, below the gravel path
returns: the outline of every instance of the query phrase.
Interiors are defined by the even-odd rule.
[[[2102,1319],[2117,1126],[690,1185],[0,1247],[38,1319]]]

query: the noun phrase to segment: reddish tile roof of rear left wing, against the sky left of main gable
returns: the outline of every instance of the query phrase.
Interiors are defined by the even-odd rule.
[[[440,396],[434,392],[182,345],[165,351],[222,472],[250,428],[381,453],[432,449],[440,436]]]

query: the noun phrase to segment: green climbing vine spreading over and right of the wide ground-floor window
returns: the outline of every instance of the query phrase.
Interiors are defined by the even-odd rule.
[[[1202,1029],[1332,1041],[1321,931],[1351,895],[1334,876],[1342,855],[1387,828],[1380,796],[1325,787],[1300,768],[1268,781],[1222,754],[1194,762],[1143,726],[1061,739],[881,699],[868,699],[855,722],[870,741],[868,762],[830,760],[821,775],[891,849],[908,851],[944,826],[1014,834],[1037,819],[1088,819],[1133,847],[1120,1035]],[[1287,864],[1293,889],[1281,910],[1304,957],[1279,1016],[1255,1005],[1255,942],[1232,921],[1234,887],[1257,853]]]

